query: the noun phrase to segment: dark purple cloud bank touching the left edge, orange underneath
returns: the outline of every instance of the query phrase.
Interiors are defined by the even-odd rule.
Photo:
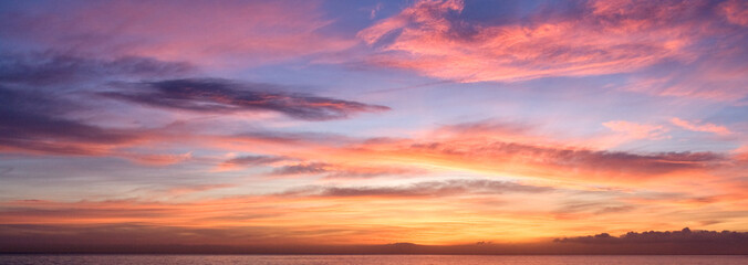
[[[83,91],[111,78],[193,71],[187,63],[148,57],[103,60],[53,51],[0,54],[0,148],[94,155],[136,140],[144,131],[105,128],[76,118],[76,114],[94,109],[85,98],[73,98],[86,96]]]

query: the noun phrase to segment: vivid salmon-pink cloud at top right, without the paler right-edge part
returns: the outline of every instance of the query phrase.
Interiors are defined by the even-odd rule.
[[[463,1],[417,1],[359,32],[381,44],[378,65],[461,82],[626,73],[688,60],[704,35],[705,2],[590,1],[573,15],[542,12],[510,24],[477,23]]]

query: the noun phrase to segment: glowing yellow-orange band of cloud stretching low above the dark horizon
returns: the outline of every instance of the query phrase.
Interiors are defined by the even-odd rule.
[[[196,186],[170,189],[169,193],[227,187],[232,186]],[[719,203],[724,199],[678,203],[694,200],[695,195],[698,194],[663,194],[658,200],[636,201],[631,199],[647,198],[647,193],[457,179],[396,186],[308,186],[278,193],[186,202],[18,200],[0,202],[0,235],[17,233],[12,227],[25,227],[27,236],[50,235],[35,227],[56,226],[54,233],[74,234],[101,244],[117,243],[111,235],[122,230],[138,237],[153,232],[146,236],[153,244],[319,244],[321,240],[337,244],[454,244],[584,235],[590,230],[622,233],[715,219],[727,225],[745,222],[745,216],[730,214],[746,208],[724,208],[729,205]],[[600,223],[606,225],[599,226]],[[711,225],[718,229],[724,224]],[[121,229],[93,234],[85,231],[102,226]]]

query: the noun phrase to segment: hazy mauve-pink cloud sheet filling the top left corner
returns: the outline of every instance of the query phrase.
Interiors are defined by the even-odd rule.
[[[279,62],[355,44],[324,34],[320,1],[8,4],[0,34],[30,47],[200,65]]]

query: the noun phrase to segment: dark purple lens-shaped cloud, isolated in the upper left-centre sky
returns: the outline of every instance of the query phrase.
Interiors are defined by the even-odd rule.
[[[154,107],[194,112],[232,113],[271,110],[307,120],[349,117],[354,113],[382,112],[385,106],[279,92],[281,87],[226,80],[168,80],[129,84],[127,92],[103,95]]]

